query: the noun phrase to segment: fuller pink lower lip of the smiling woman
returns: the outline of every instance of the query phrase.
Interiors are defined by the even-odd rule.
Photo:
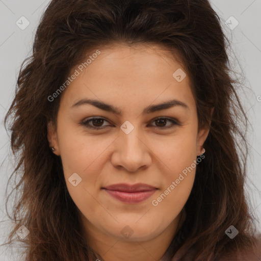
[[[148,199],[156,190],[140,191],[140,192],[123,192],[117,190],[107,190],[112,197],[120,200],[121,202],[135,204]]]

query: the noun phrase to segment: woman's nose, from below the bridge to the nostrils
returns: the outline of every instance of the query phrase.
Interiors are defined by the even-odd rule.
[[[120,130],[114,146],[111,162],[117,169],[135,172],[152,162],[148,141],[139,133],[138,127],[134,127],[129,134]]]

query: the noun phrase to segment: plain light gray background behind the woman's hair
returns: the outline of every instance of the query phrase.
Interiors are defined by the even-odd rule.
[[[13,158],[9,153],[9,138],[3,125],[3,119],[14,97],[14,88],[20,65],[32,50],[33,37],[40,16],[49,2],[49,0],[0,0],[0,164],[2,164],[0,165],[0,220],[3,221],[0,223],[0,244],[4,242],[7,232],[10,230],[11,223],[6,216],[4,200],[7,179],[14,168]],[[250,128],[248,134],[251,151],[248,160],[246,188],[249,200],[252,202],[252,211],[260,220],[261,0],[213,0],[211,4],[222,19],[225,33],[232,42],[232,49],[229,50],[231,65],[239,73],[243,71],[242,75],[245,77],[244,85],[246,87],[239,94],[252,123],[252,128]],[[26,25],[27,21],[20,18],[21,16],[24,16],[30,22],[24,30],[21,30],[16,24],[16,21],[18,21],[20,27]],[[231,18],[231,16],[234,18]],[[256,221],[256,223],[259,231],[261,231],[260,222]],[[0,247],[0,260],[11,260],[6,247]]]

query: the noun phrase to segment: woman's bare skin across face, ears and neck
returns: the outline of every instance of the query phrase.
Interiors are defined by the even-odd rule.
[[[152,200],[202,153],[209,129],[198,132],[189,76],[181,82],[174,79],[172,74],[178,68],[186,70],[168,50],[158,45],[123,44],[99,50],[101,54],[61,94],[57,129],[48,125],[49,145],[61,156],[86,240],[103,260],[159,260],[184,221],[181,214],[195,168],[158,205]],[[88,104],[72,108],[82,98],[109,103],[121,115]],[[182,101],[188,108],[174,106],[142,114],[146,107],[170,99]],[[95,131],[80,125],[91,117],[106,119],[89,122],[104,128]],[[159,117],[176,119],[180,125],[155,121]],[[126,120],[134,126],[129,134],[120,128]],[[68,181],[72,173],[82,178],[76,187]],[[121,182],[142,182],[158,190],[143,202],[128,204],[101,189]],[[125,226],[133,231],[128,238],[121,233]]]

